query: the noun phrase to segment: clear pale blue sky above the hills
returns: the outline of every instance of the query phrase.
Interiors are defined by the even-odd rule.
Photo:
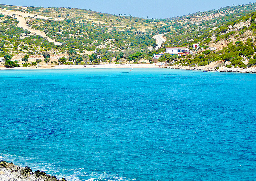
[[[109,14],[131,14],[137,17],[170,18],[197,11],[219,9],[251,0],[1,0],[1,4],[17,6],[73,7]]]

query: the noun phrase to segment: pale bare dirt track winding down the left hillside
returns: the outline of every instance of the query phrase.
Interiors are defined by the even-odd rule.
[[[25,19],[24,17],[34,17],[35,14],[30,14],[30,13],[21,12],[21,11],[11,11],[11,10],[0,10],[0,13],[2,13],[4,15],[9,15],[9,16],[12,16],[13,14],[16,14],[15,18],[17,18],[17,20],[19,21],[19,23],[17,25],[18,27],[23,28],[24,30],[27,29],[28,31],[30,31],[32,33],[35,33],[35,34],[38,34],[42,37],[46,37],[49,42],[53,42],[55,45],[62,45],[60,42],[56,42],[55,40],[47,37],[44,32],[39,31],[39,30],[34,30],[34,29],[30,28],[29,26],[27,26],[27,23],[26,23],[27,19]],[[37,15],[36,18],[49,19],[51,17]],[[58,19],[58,20],[62,20],[62,19]]]

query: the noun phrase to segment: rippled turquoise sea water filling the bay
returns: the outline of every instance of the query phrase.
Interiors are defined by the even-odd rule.
[[[0,71],[0,159],[68,180],[254,180],[256,74]]]

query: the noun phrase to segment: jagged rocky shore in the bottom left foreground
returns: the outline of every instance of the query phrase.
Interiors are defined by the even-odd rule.
[[[67,181],[66,179],[58,180],[56,176],[51,176],[43,171],[35,171],[29,167],[19,167],[13,163],[0,161],[0,180],[1,181]]]

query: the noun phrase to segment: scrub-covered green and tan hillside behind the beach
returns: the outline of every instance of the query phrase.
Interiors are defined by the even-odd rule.
[[[254,47],[255,40],[255,17],[251,13],[256,11],[256,3],[166,19],[144,19],[130,14],[112,15],[76,8],[9,5],[0,5],[0,8],[0,57],[10,54],[18,64],[26,54],[28,62],[35,63],[39,58],[43,63],[43,58],[47,58],[42,56],[43,52],[51,55],[50,64],[57,64],[61,56],[76,63],[150,62],[153,54],[164,51],[165,47],[192,49],[192,44],[198,43],[203,50],[196,50],[192,57],[181,57],[172,63],[203,66],[222,60],[223,57],[217,54],[231,51],[231,44],[241,41],[242,46],[248,46],[249,41]],[[162,44],[162,49],[150,51],[149,47],[157,46],[152,36],[163,33],[167,41]],[[217,47],[219,53],[209,52],[209,46]],[[100,57],[91,57],[94,50]],[[207,53],[202,54],[206,50]],[[252,53],[244,54],[244,63],[249,62]]]

